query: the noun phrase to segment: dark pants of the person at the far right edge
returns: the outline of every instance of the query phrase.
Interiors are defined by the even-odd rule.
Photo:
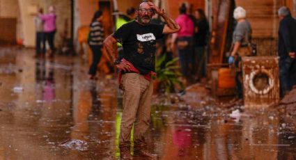
[[[281,87],[281,95],[286,95],[292,86],[295,85],[295,66],[294,60],[290,57],[287,58],[280,58],[279,60],[279,80],[280,80],[280,87]]]

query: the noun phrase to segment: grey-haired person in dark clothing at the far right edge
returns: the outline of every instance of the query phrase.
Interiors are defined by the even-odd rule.
[[[279,79],[281,96],[295,85],[296,20],[286,6],[279,8]]]

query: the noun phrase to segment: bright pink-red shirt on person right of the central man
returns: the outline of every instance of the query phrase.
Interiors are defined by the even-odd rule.
[[[178,38],[192,37],[194,35],[194,23],[188,15],[179,15],[176,22],[181,28],[180,31],[178,31]]]

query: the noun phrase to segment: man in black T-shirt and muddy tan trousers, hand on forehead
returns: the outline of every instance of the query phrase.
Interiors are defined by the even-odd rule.
[[[150,24],[157,13],[166,21],[165,25]],[[114,45],[123,45],[123,59],[115,61],[120,69],[120,88],[123,89],[123,115],[120,125],[120,158],[132,159],[130,134],[134,125],[134,155],[153,158],[146,150],[145,134],[150,123],[150,102],[153,94],[151,76],[155,74],[155,40],[163,34],[176,33],[180,26],[164,10],[151,2],[143,2],[136,11],[137,19],[124,24],[104,40],[104,46],[114,61]]]

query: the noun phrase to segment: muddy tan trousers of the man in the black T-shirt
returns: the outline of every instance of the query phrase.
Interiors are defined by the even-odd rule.
[[[130,146],[130,133],[134,125],[134,145],[146,145],[145,134],[150,123],[153,82],[141,74],[126,73],[123,85],[123,115],[120,124],[119,147]]]

